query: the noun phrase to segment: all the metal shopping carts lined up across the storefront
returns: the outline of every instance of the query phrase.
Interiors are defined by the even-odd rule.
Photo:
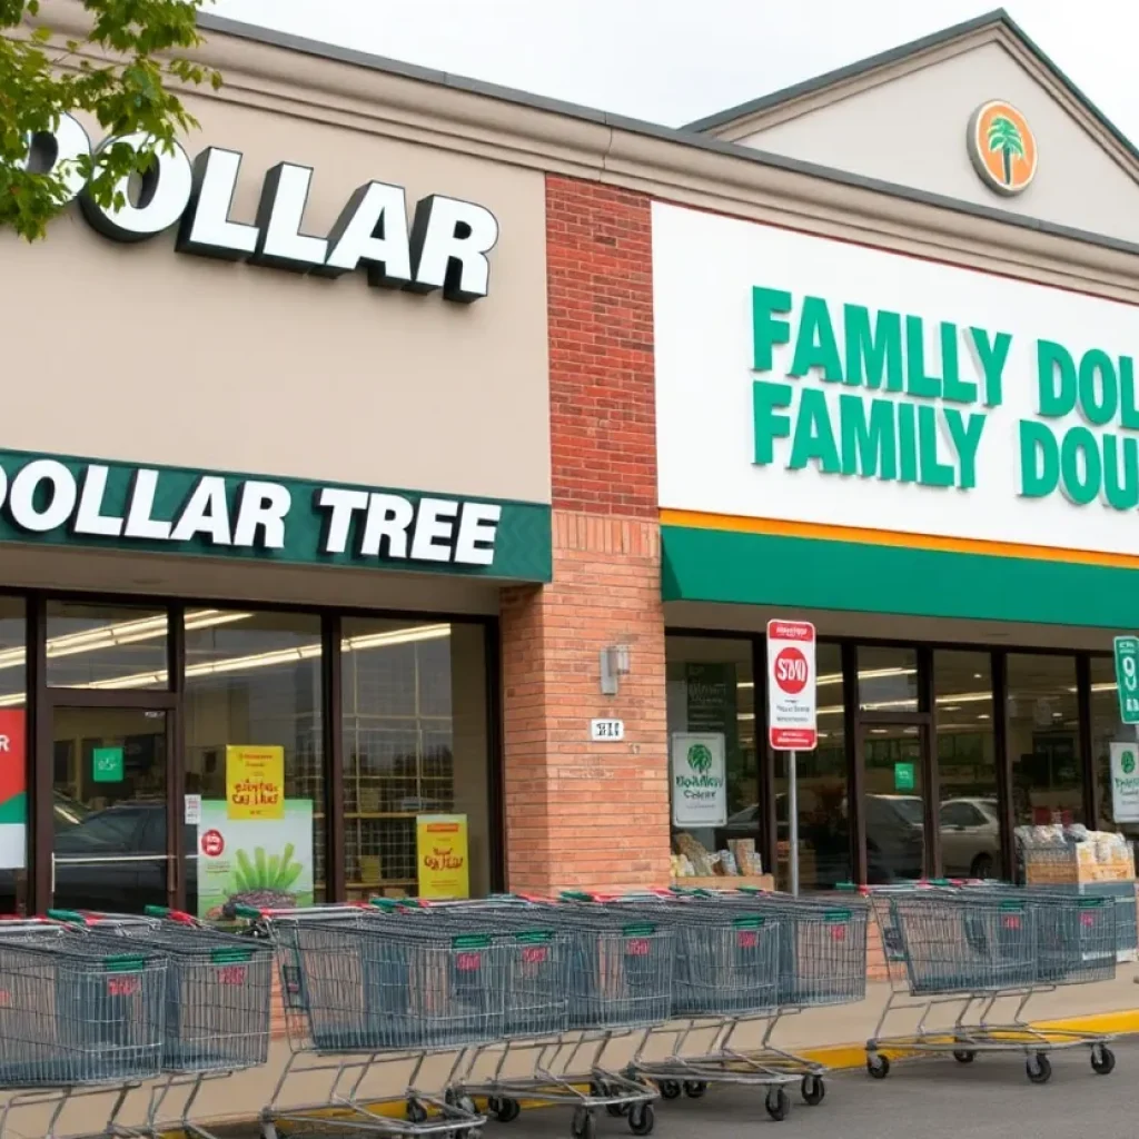
[[[821,1103],[827,1073],[777,1047],[776,1029],[865,997],[871,912],[892,982],[867,1043],[871,1075],[898,1052],[968,1064],[1019,1050],[1034,1082],[1057,1048],[1088,1047],[1096,1072],[1114,1067],[1106,1036],[1025,1019],[1033,993],[1115,972],[1111,899],[1055,890],[377,901],[243,910],[243,935],[164,912],[56,913],[0,921],[0,1089],[14,1092],[0,1139],[11,1112],[38,1105],[51,1139],[67,1104],[98,1092],[110,1093],[109,1118],[95,1133],[155,1137],[173,1124],[212,1139],[194,1121],[199,1092],[267,1062],[274,974],[290,1055],[261,1115],[264,1139],[327,1131],[330,1118],[345,1133],[473,1139],[524,1100],[568,1109],[574,1139],[592,1139],[603,1113],[644,1136],[659,1099],[711,1084],[756,1088],[781,1120],[793,1085]],[[1003,999],[1015,1009],[998,1021]],[[949,1027],[928,1023],[953,1002]],[[899,1014],[917,1027],[887,1035]],[[325,1092],[298,1106],[310,1073]],[[145,1120],[128,1124],[124,1103],[144,1084]]]

